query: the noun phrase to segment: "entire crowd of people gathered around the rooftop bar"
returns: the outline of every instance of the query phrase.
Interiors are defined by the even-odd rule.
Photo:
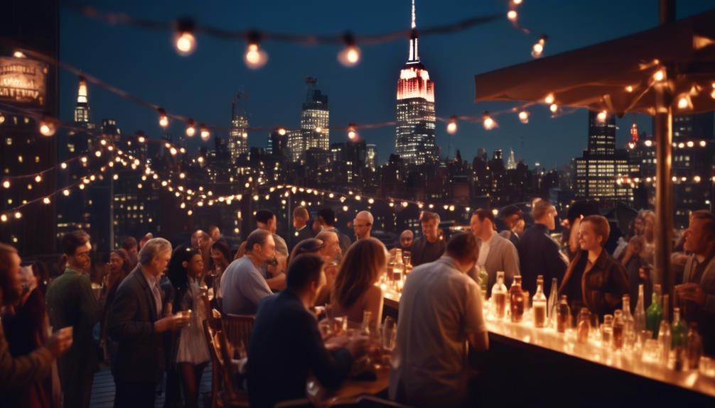
[[[465,344],[473,352],[488,350],[482,305],[498,272],[507,286],[521,276],[531,294],[541,276],[544,292],[566,295],[571,310],[586,307],[599,317],[621,308],[623,295],[636,299],[638,285],[651,290],[654,214],[639,213],[611,254],[608,220],[588,206],[574,208],[563,245],[550,235],[556,208],[538,199],[528,228],[516,206],[501,213],[478,209],[470,230],[449,238],[440,216],[425,211],[421,234],[405,230],[389,250],[371,236],[374,218],[367,210],[352,221],[355,240],[335,228],[330,208],[318,210],[312,222],[307,208],[295,208],[295,233],[288,237],[276,233],[274,213],[258,210],[256,229],[235,254],[217,226],[195,231],[175,248],[151,234],[127,238],[109,253],[99,291],[88,275],[92,242],[84,231],[61,238],[66,267],[46,292],[38,268],[21,267],[16,250],[0,244],[0,405],[89,407],[104,357],[116,384],[115,407],[153,407],[157,389],[166,392],[166,407],[196,407],[210,360],[203,322],[212,307],[255,316],[246,364],[252,406],[305,397],[309,372],[335,387],[368,351],[368,338],[323,339],[316,310],[325,306],[331,317],[380,330],[380,277],[401,250],[414,268],[400,297],[390,399],[461,406],[470,387]],[[694,212],[679,245],[676,294],[686,320],[697,324],[705,354],[713,355],[715,215]]]

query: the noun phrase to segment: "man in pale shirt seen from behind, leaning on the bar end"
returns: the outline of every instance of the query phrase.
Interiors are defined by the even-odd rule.
[[[445,255],[415,267],[400,298],[390,399],[418,407],[466,407],[467,343],[487,350],[482,296],[466,275],[477,260],[474,235],[460,233]]]

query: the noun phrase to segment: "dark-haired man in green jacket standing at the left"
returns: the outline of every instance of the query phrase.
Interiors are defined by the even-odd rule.
[[[64,407],[87,408],[98,368],[92,327],[101,315],[87,275],[92,245],[89,235],[77,230],[62,237],[61,247],[67,267],[47,288],[47,311],[53,330],[73,327],[72,347],[57,359]]]

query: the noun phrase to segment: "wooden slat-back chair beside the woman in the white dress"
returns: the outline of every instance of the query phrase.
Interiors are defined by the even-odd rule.
[[[239,378],[230,358],[232,347],[223,332],[212,327],[209,319],[204,322],[204,335],[212,363],[211,407],[248,407],[248,393],[236,386]]]

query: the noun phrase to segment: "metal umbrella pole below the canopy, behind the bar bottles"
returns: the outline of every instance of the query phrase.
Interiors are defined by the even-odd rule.
[[[666,78],[673,73],[668,67]],[[656,116],[654,136],[656,139],[656,259],[655,282],[662,285],[663,294],[669,294],[673,286],[670,272],[673,243],[673,183],[671,165],[673,150],[673,109],[668,81],[656,85]]]

